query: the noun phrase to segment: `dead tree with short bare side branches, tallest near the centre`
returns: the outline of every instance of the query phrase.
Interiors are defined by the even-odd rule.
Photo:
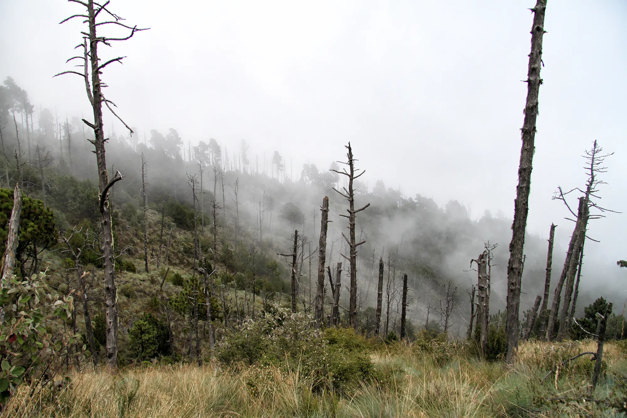
[[[349,324],[353,328],[357,329],[357,247],[359,247],[359,245],[364,244],[366,240],[363,240],[361,242],[356,242],[355,220],[356,220],[357,213],[361,212],[362,210],[370,206],[370,203],[367,203],[366,206],[363,206],[362,208],[359,208],[357,210],[355,209],[355,191],[353,190],[353,181],[356,178],[359,178],[359,176],[361,176],[362,174],[366,173],[366,170],[362,170],[362,172],[357,175],[355,174],[355,161],[357,160],[353,158],[352,148],[350,147],[350,142],[346,146],[346,148],[348,149],[348,153],[346,154],[348,161],[342,164],[347,165],[349,167],[349,171],[347,172],[346,169],[342,169],[342,171],[337,171],[337,170],[332,169],[331,171],[335,171],[335,173],[339,173],[339,174],[344,174],[345,176],[347,176],[349,180],[348,190],[346,188],[343,188],[345,193],[342,193],[336,188],[333,188],[333,190],[337,191],[337,193],[344,196],[344,198],[349,201],[349,209],[347,209],[347,212],[349,214],[340,215],[340,216],[349,219],[348,228],[349,228],[350,239],[347,238],[343,232],[342,232],[342,236],[344,237],[344,239],[346,240],[347,244],[350,247],[350,257],[346,257],[345,255],[342,255],[342,257],[349,260],[350,262]]]

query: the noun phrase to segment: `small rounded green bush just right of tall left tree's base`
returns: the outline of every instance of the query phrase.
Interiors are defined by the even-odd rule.
[[[171,353],[170,330],[151,313],[144,313],[129,330],[130,349],[140,360]]]

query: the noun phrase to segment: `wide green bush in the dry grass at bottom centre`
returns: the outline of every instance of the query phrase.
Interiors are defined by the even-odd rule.
[[[325,330],[322,338],[318,332],[311,316],[271,306],[228,331],[218,358],[228,365],[273,364],[298,370],[314,390],[342,392],[380,377],[367,341],[354,330],[332,328]]]

